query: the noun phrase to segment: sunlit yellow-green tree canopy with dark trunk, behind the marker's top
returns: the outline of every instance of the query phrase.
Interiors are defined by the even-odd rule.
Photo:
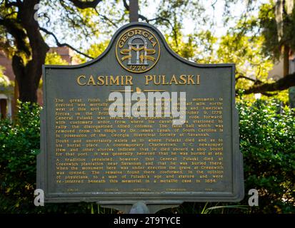
[[[141,0],[139,21],[157,26],[184,58],[236,63],[237,92],[281,95],[295,86],[294,75],[286,73],[286,64],[279,81],[271,81],[268,71],[282,56],[286,63],[286,53],[294,51],[292,4],[294,0]],[[13,60],[21,100],[36,101],[49,46],[68,46],[89,61],[128,22],[127,0],[0,1],[0,47]]]

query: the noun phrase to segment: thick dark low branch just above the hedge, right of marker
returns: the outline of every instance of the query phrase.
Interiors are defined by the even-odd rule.
[[[295,86],[295,73],[291,73],[284,78],[280,78],[278,81],[274,83],[263,83],[259,85],[254,85],[249,89],[244,91],[244,94],[251,94],[251,93],[267,93],[267,92],[274,92],[278,90],[286,90]]]

